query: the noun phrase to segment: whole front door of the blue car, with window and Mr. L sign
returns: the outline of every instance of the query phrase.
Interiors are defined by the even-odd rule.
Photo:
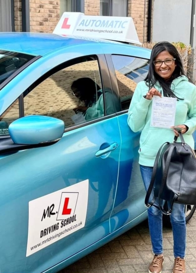
[[[107,66],[103,55],[65,63],[61,55],[61,62],[47,74],[36,70],[45,71],[41,59],[33,72],[22,71],[18,80],[24,78],[24,86],[28,78],[32,83],[24,88],[20,82],[17,99],[16,78],[1,90],[7,108],[0,115],[2,128],[28,115],[54,117],[65,124],[63,136],[53,145],[0,151],[1,273],[44,272],[110,232],[121,137],[112,99],[109,106],[104,104],[104,90],[112,97]],[[79,100],[71,85],[82,77],[91,78],[102,92],[103,114],[94,108],[90,120],[73,111]],[[96,96],[98,104],[98,92]],[[0,136],[1,150],[7,134]]]

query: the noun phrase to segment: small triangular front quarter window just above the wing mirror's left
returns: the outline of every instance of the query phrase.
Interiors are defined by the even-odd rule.
[[[0,136],[9,136],[8,126],[19,118],[18,99],[0,116]]]

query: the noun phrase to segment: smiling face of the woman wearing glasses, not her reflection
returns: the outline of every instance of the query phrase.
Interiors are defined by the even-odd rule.
[[[174,57],[170,55],[168,51],[162,51],[156,56],[155,60],[153,61],[154,71],[160,77],[164,79],[169,79],[176,68],[175,60],[173,59]],[[161,63],[158,61],[165,61],[166,64],[164,62]]]

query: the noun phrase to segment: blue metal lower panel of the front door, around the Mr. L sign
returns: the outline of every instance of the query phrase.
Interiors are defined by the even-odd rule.
[[[0,202],[1,244],[4,245],[0,256],[2,273],[43,272],[109,234],[121,146],[117,128],[115,118],[106,119],[87,126],[85,131],[76,129],[74,135],[73,131],[66,132],[49,147],[0,156],[4,193]],[[96,157],[105,142],[117,142],[118,147],[106,158]],[[10,177],[10,173],[17,175]],[[85,227],[25,258],[28,222],[24,219],[28,219],[28,203],[86,179],[90,183]]]

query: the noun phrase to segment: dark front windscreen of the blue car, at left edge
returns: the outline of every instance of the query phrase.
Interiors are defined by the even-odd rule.
[[[35,56],[0,50],[0,84]]]

